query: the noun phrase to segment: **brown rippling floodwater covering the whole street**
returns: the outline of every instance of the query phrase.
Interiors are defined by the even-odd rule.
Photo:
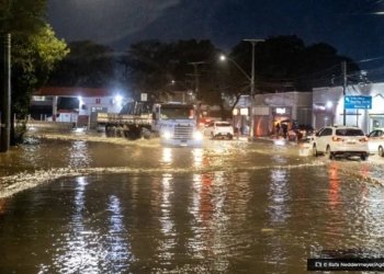
[[[0,273],[305,273],[321,250],[383,256],[380,161],[81,138],[31,138],[0,161],[13,194]]]

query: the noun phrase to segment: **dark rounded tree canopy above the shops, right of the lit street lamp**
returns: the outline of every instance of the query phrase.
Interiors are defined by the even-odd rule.
[[[332,46],[318,43],[306,46],[295,35],[275,36],[255,46],[256,87],[260,92],[308,91],[314,87],[330,85],[341,79],[341,62],[348,71],[359,70],[350,58],[338,55]],[[240,42],[230,56],[250,75],[251,45]],[[334,82],[335,83],[335,82]]]

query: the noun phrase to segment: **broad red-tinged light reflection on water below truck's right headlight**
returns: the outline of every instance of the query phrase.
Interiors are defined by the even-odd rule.
[[[210,267],[218,272],[227,271],[229,264],[226,258],[230,246],[227,239],[229,218],[225,210],[225,201],[229,196],[228,183],[221,171],[194,174],[193,198],[189,206],[194,217],[193,238],[189,247],[195,258],[214,258]]]

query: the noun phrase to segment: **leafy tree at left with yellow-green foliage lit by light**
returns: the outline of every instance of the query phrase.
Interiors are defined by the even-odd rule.
[[[33,91],[46,82],[55,64],[68,54],[66,43],[46,23],[45,12],[46,0],[0,1],[0,34],[11,34],[12,119],[13,114],[26,116]]]

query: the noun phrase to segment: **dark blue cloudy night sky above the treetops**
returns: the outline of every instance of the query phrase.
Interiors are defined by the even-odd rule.
[[[229,50],[244,38],[297,35],[355,61],[384,56],[384,0],[48,0],[67,42],[117,50],[147,38],[207,38]]]

